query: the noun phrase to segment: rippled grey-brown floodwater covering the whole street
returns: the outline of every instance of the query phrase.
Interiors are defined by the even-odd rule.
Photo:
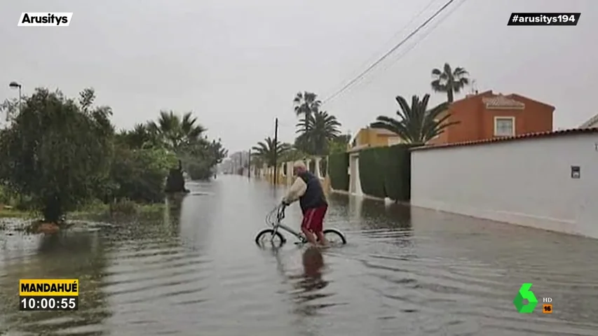
[[[119,228],[0,231],[0,335],[598,335],[596,240],[333,195],[327,226],[346,246],[262,250],[282,190],[188,188],[201,193]],[[19,312],[23,278],[79,278],[79,311]],[[532,314],[512,304],[524,282]]]

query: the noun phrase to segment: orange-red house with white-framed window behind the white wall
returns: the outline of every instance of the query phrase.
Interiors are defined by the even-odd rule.
[[[447,127],[430,144],[480,141],[515,137],[536,132],[552,132],[555,106],[537,102],[519,94],[494,94],[491,90],[468,94],[449,107]],[[442,118],[442,115],[440,116]]]

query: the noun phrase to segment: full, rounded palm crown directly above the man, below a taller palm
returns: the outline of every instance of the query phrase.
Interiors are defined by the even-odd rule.
[[[297,123],[295,145],[313,155],[328,153],[329,143],[341,134],[341,123],[326,111],[313,111]]]

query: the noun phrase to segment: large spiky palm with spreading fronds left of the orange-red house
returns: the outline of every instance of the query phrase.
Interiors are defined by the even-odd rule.
[[[411,144],[426,144],[438,134],[442,134],[447,127],[458,123],[448,121],[451,116],[449,113],[440,117],[442,113],[447,111],[448,102],[428,110],[430,94],[426,94],[421,100],[414,95],[411,106],[401,96],[397,96],[396,100],[400,106],[400,110],[397,111],[397,116],[400,117],[398,120],[379,116],[376,118],[376,122],[369,126],[394,132]]]

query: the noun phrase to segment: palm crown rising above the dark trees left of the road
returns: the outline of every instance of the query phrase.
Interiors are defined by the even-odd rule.
[[[201,136],[206,130],[197,123],[197,118],[191,112],[185,113],[181,118],[172,111],[161,111],[158,122],[150,121],[147,128],[158,134],[164,144],[177,153],[185,146],[204,141]]]

